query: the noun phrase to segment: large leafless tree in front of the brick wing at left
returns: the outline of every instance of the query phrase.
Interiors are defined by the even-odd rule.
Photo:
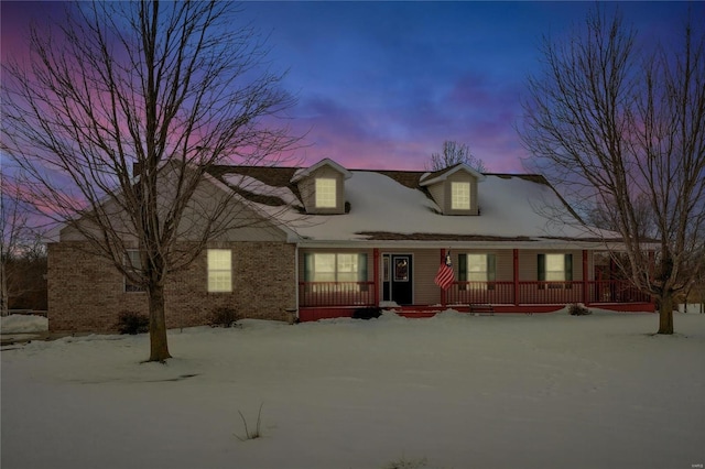
[[[296,141],[272,127],[293,100],[237,13],[217,1],[78,2],[56,37],[32,28],[28,67],[3,67],[2,148],[35,206],[147,291],[150,361],[171,357],[166,277],[256,222],[208,170],[272,164]]]

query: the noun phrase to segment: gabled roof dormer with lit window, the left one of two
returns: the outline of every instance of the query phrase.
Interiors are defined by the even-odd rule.
[[[352,174],[330,159],[301,168],[291,178],[307,214],[345,214],[345,181]]]

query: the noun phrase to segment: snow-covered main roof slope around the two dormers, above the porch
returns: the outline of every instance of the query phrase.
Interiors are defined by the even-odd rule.
[[[346,170],[347,171],[347,170]],[[457,171],[457,170],[456,170]],[[299,168],[223,166],[217,176],[265,211],[275,211],[303,243],[377,241],[484,243],[596,242],[579,223],[557,223],[555,210],[572,211],[540,175],[485,174],[477,216],[442,215],[422,181],[424,172],[350,170],[345,182],[348,208],[340,215],[302,217],[293,177]],[[246,176],[243,176],[246,175]],[[446,175],[447,176],[447,175]],[[435,175],[434,178],[440,177]],[[243,187],[238,186],[243,184]],[[282,211],[282,206],[289,210]],[[577,221],[577,219],[576,219]]]

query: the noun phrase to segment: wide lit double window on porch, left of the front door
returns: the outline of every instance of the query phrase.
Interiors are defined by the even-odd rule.
[[[359,291],[358,282],[367,282],[367,254],[365,253],[307,253],[304,255],[306,282],[344,283],[337,285],[337,291]]]

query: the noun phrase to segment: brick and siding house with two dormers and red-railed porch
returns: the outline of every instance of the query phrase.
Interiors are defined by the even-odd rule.
[[[262,222],[212,241],[166,286],[167,327],[207,324],[221,307],[252,318],[302,321],[384,306],[405,316],[491,305],[551,312],[568,303],[653,310],[610,266],[603,241],[539,175],[355,171],[325,159],[310,167],[216,166],[210,190]],[[82,249],[68,228],[48,246],[53,330],[112,330],[147,295]],[[618,242],[616,243],[618,246]],[[137,247],[135,247],[137,253]],[[447,290],[434,282],[446,258]]]

